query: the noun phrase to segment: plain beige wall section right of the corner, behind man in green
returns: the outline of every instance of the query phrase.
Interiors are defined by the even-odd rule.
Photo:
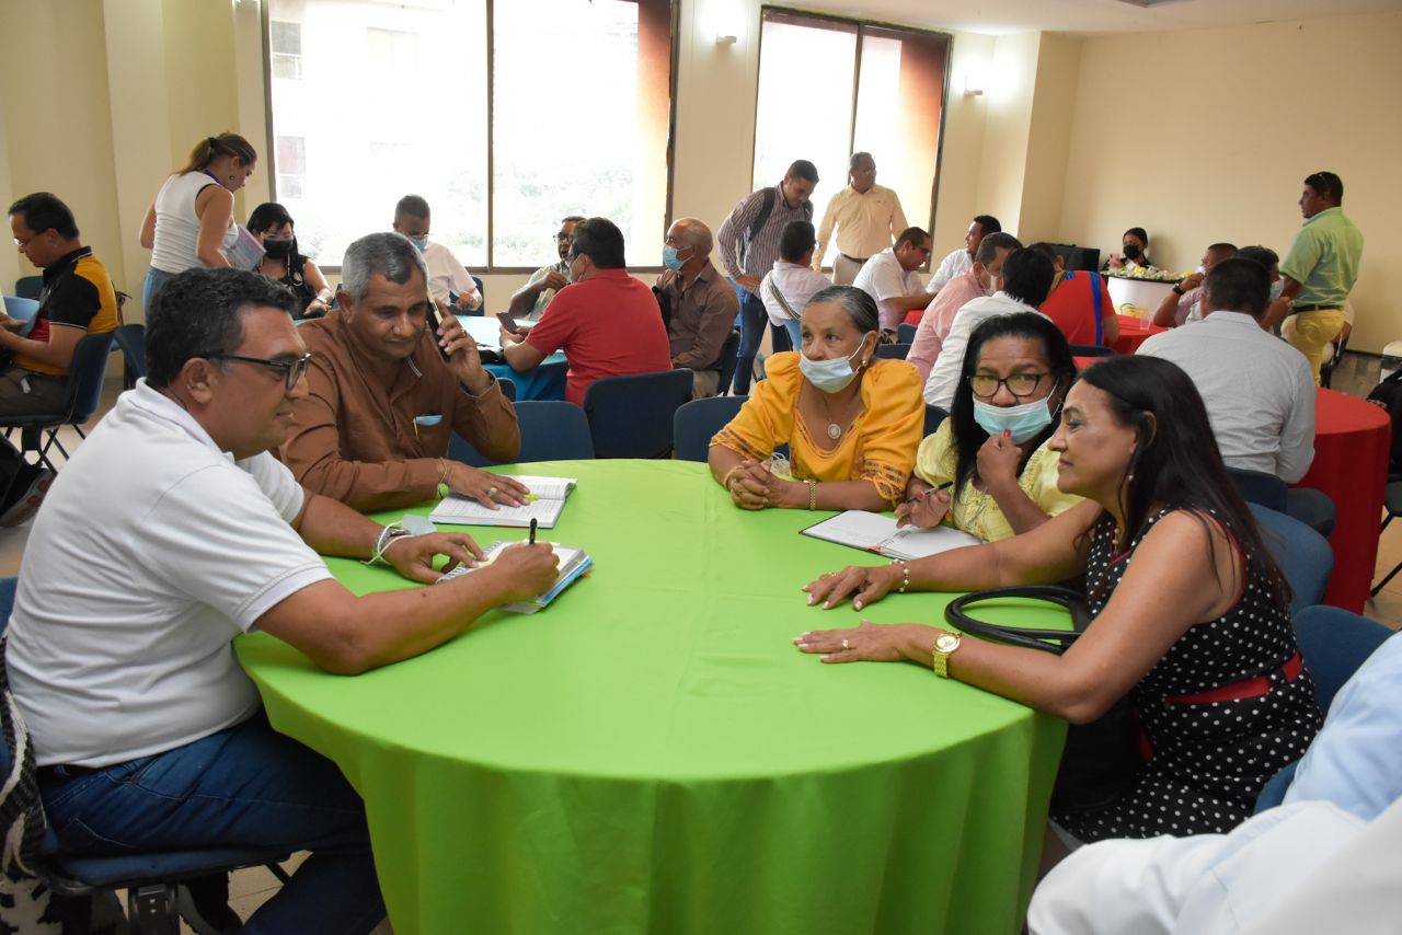
[[[1087,39],[1061,238],[1109,250],[1140,224],[1173,269],[1218,240],[1284,255],[1301,181],[1335,171],[1367,241],[1350,346],[1381,350],[1402,338],[1399,52],[1398,14]],[[1116,104],[1131,80],[1144,104]]]

